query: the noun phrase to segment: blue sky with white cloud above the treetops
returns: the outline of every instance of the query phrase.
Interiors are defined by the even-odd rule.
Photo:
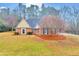
[[[41,8],[42,3],[24,3],[27,7],[29,7],[31,4],[33,5],[38,5],[39,8]],[[62,6],[74,6],[74,7],[78,7],[79,3],[45,3],[45,6],[50,6],[50,7],[55,7],[56,9],[60,9],[60,7]],[[18,6],[18,3],[0,3],[0,7],[8,7],[8,8],[16,8]],[[78,7],[79,8],[79,7]]]

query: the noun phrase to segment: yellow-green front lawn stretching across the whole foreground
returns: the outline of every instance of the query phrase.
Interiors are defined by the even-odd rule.
[[[77,41],[76,41],[77,40]],[[79,55],[79,38],[66,40],[41,40],[35,35],[0,33],[0,55],[5,56],[54,56]]]

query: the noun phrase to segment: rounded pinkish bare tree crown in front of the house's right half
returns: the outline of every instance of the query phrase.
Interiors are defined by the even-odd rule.
[[[59,17],[56,16],[43,16],[42,19],[39,22],[39,25],[41,28],[48,28],[51,29],[52,32],[54,31],[55,33],[57,31],[62,31],[64,30],[64,21],[61,20]]]

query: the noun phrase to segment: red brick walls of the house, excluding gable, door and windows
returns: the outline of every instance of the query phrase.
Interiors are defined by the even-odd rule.
[[[26,28],[26,33],[27,32],[32,32],[32,31],[33,30],[31,28]],[[21,34],[21,28],[16,28],[16,32]],[[63,32],[63,30],[56,30],[56,32]],[[43,34],[43,28],[34,29],[33,34],[44,35]],[[55,29],[48,29],[48,35],[51,35],[51,34],[56,34]]]

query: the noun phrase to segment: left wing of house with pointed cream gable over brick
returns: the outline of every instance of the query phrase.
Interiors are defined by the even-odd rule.
[[[22,18],[20,23],[17,25],[16,32],[19,34],[28,34],[28,33],[32,32],[32,29],[29,26],[29,24],[27,23],[25,18]]]

